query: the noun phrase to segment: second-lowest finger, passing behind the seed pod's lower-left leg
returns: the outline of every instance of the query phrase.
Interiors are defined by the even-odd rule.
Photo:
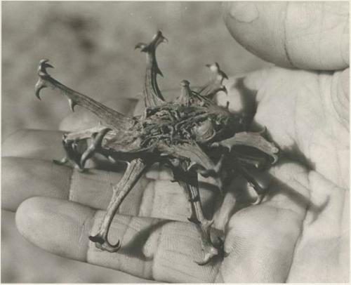
[[[123,173],[58,166],[40,159],[3,158],[2,208],[15,211],[29,197],[46,196],[69,199],[92,208],[106,209],[112,198],[112,185]],[[201,201],[206,215],[213,213],[216,190],[211,185],[201,187]],[[190,217],[187,196],[178,183],[169,180],[140,178],[119,207],[119,213],[185,220]]]

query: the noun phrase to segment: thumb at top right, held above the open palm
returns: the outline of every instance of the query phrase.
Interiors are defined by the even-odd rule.
[[[227,2],[225,24],[239,44],[283,67],[349,66],[348,2]]]

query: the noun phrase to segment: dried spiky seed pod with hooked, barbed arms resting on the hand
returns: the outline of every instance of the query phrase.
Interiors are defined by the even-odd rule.
[[[75,105],[80,105],[103,121],[103,124],[93,128],[63,135],[66,157],[57,163],[71,161],[84,170],[86,161],[95,153],[112,162],[127,162],[123,178],[113,186],[112,199],[100,229],[89,239],[102,251],[113,253],[119,250],[120,241],[110,244],[108,240],[112,219],[140,176],[152,164],[159,163],[171,168],[174,180],[187,194],[192,211],[189,220],[201,234],[204,251],[203,259],[197,263],[204,265],[220,253],[223,241],[211,240],[213,220],[206,219],[202,211],[198,174],[216,178],[219,190],[223,187],[223,173],[227,173],[227,178],[232,177],[233,173],[243,175],[256,190],[256,203],[259,203],[266,189],[248,169],[262,168],[276,162],[279,150],[263,138],[262,132],[248,132],[243,114],[232,114],[228,108],[220,107],[213,101],[218,91],[226,92],[223,79],[227,76],[217,63],[206,65],[211,71],[207,84],[195,91],[190,88],[189,81],[183,80],[179,97],[173,102],[166,102],[157,85],[157,75],[162,74],[156,60],[156,48],[165,41],[166,38],[159,31],[149,44],[135,46],[147,58],[143,90],[145,112],[138,117],[120,114],[56,81],[46,72],[47,67],[52,67],[48,60],[39,63],[39,81],[35,92],[40,99],[42,88],[58,88],[67,96],[72,111]],[[91,141],[90,145],[84,151],[79,150],[79,143],[88,141]],[[256,152],[258,150],[259,155],[241,152],[242,146]]]

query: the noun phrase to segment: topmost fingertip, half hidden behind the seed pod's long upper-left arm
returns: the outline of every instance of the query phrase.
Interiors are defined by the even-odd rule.
[[[138,99],[136,98],[109,98],[102,101],[102,104],[126,116],[133,115],[137,103]],[[77,108],[77,110],[74,110],[74,112],[61,121],[59,129],[62,131],[80,131],[84,128],[97,126],[99,122],[100,119],[95,114],[88,110]]]

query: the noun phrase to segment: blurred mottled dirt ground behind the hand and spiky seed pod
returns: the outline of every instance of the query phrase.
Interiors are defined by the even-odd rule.
[[[204,83],[206,63],[217,61],[229,75],[268,65],[230,37],[220,2],[2,2],[2,140],[20,128],[57,129],[70,112],[55,91],[35,98],[41,58],[55,66],[53,77],[95,100],[138,98],[145,55],[134,46],[157,29],[169,41],[157,53],[164,89],[182,79]],[[13,217],[1,217],[2,282],[140,282],[44,253],[20,237]]]

